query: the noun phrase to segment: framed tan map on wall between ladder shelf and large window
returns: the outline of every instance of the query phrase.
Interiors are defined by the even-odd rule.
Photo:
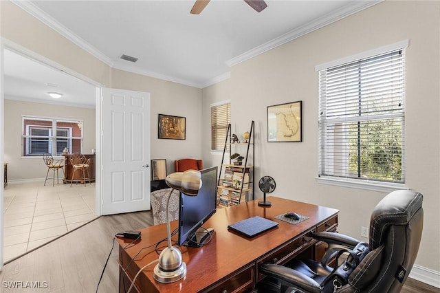
[[[303,141],[303,101],[267,106],[267,142]]]

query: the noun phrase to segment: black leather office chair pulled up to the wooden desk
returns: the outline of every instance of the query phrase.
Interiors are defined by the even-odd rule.
[[[394,191],[377,204],[370,219],[370,251],[351,272],[348,283],[334,292],[400,292],[419,250],[422,201],[423,196],[415,191]],[[256,285],[256,291],[323,292],[333,271],[327,261],[338,250],[353,249],[360,242],[335,232],[316,232],[312,237],[329,243],[322,261],[294,259],[286,265],[264,264],[261,271],[266,277]]]

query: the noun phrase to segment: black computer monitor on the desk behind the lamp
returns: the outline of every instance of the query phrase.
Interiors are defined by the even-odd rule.
[[[210,228],[197,230],[217,211],[217,170],[214,166],[200,171],[202,185],[197,196],[180,193],[178,245],[199,247],[212,234]]]

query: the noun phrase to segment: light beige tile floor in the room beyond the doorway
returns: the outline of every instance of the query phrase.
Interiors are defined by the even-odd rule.
[[[4,250],[8,261],[96,218],[95,184],[9,183],[4,190]]]

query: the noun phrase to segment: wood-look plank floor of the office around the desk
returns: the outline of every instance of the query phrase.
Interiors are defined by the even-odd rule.
[[[151,211],[102,216],[7,263],[0,272],[1,292],[96,292],[114,235],[152,225]],[[118,292],[117,259],[115,243],[98,292]],[[439,289],[408,279],[401,292],[435,293]]]

